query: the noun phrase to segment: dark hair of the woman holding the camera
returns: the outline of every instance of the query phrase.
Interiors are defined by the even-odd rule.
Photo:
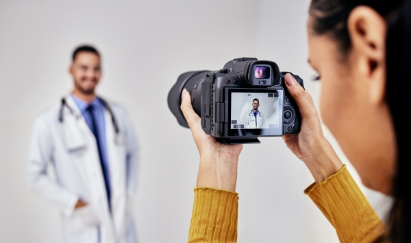
[[[359,5],[373,8],[386,19],[386,100],[393,119],[397,163],[392,194],[394,202],[388,216],[388,240],[411,242],[411,1],[410,0],[312,0],[310,16],[315,34],[330,34],[342,54],[351,49],[347,20]]]

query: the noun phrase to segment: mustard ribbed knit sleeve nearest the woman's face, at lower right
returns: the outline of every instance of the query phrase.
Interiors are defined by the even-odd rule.
[[[382,220],[345,165],[325,181],[310,185],[304,193],[332,223],[340,242],[373,242],[385,233]]]

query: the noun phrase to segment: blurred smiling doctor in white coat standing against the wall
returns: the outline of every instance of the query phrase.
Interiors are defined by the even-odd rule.
[[[34,123],[29,187],[60,211],[66,242],[136,242],[130,209],[138,145],[132,122],[124,108],[95,94],[101,65],[94,47],[75,49],[70,73],[73,92]]]

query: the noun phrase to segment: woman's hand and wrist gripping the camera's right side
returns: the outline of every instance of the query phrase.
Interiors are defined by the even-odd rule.
[[[323,135],[319,114],[311,95],[299,85],[290,73],[285,76],[288,92],[301,112],[301,131],[283,137],[288,148],[306,163],[316,183],[338,172],[343,163]]]

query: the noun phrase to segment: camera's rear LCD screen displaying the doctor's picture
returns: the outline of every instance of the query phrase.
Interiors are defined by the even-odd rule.
[[[243,90],[229,94],[231,135],[282,135],[282,90]]]

